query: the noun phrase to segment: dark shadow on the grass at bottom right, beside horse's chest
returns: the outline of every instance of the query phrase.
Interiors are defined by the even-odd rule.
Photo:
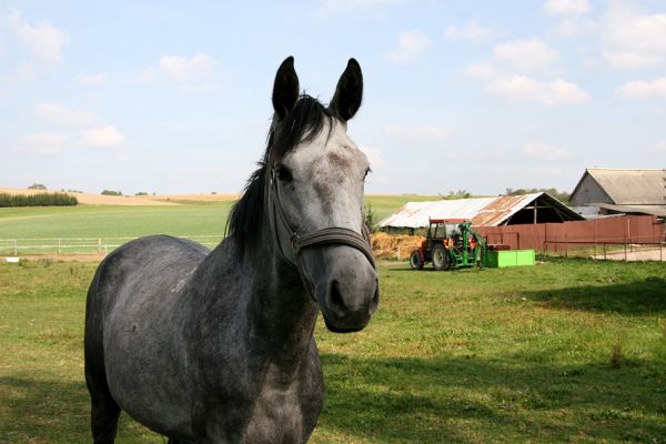
[[[325,354],[322,361],[327,400],[320,428],[350,436],[382,443],[666,436],[666,372],[655,371],[656,363],[640,371],[443,356]]]

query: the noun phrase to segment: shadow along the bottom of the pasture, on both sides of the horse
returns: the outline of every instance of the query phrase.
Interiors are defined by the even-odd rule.
[[[565,442],[572,436],[653,443],[666,436],[663,362],[609,369],[511,357],[323,354],[322,364],[327,400],[314,437],[320,443],[330,441],[316,435],[377,443]],[[90,442],[88,402],[83,382],[0,377],[0,442]],[[163,442],[130,421],[121,422],[119,438]]]

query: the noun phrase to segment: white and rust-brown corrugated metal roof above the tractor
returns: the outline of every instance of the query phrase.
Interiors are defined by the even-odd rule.
[[[435,202],[407,202],[395,214],[380,222],[380,226],[417,229],[427,226],[430,219],[468,219],[473,225],[501,225],[536,199],[547,200],[572,220],[583,219],[564,203],[547,193],[500,195],[497,198],[457,199]]]

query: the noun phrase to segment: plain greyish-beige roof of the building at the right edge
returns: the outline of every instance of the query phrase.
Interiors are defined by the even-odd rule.
[[[615,204],[666,204],[666,170],[588,168],[586,173],[593,176]]]

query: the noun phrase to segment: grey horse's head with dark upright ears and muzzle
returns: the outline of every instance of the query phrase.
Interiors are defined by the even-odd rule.
[[[380,300],[364,226],[367,158],[347,134],[361,107],[363,77],[351,59],[327,108],[301,95],[293,58],[278,70],[265,158],[269,211],[283,259],[333,332],[365,327]]]

